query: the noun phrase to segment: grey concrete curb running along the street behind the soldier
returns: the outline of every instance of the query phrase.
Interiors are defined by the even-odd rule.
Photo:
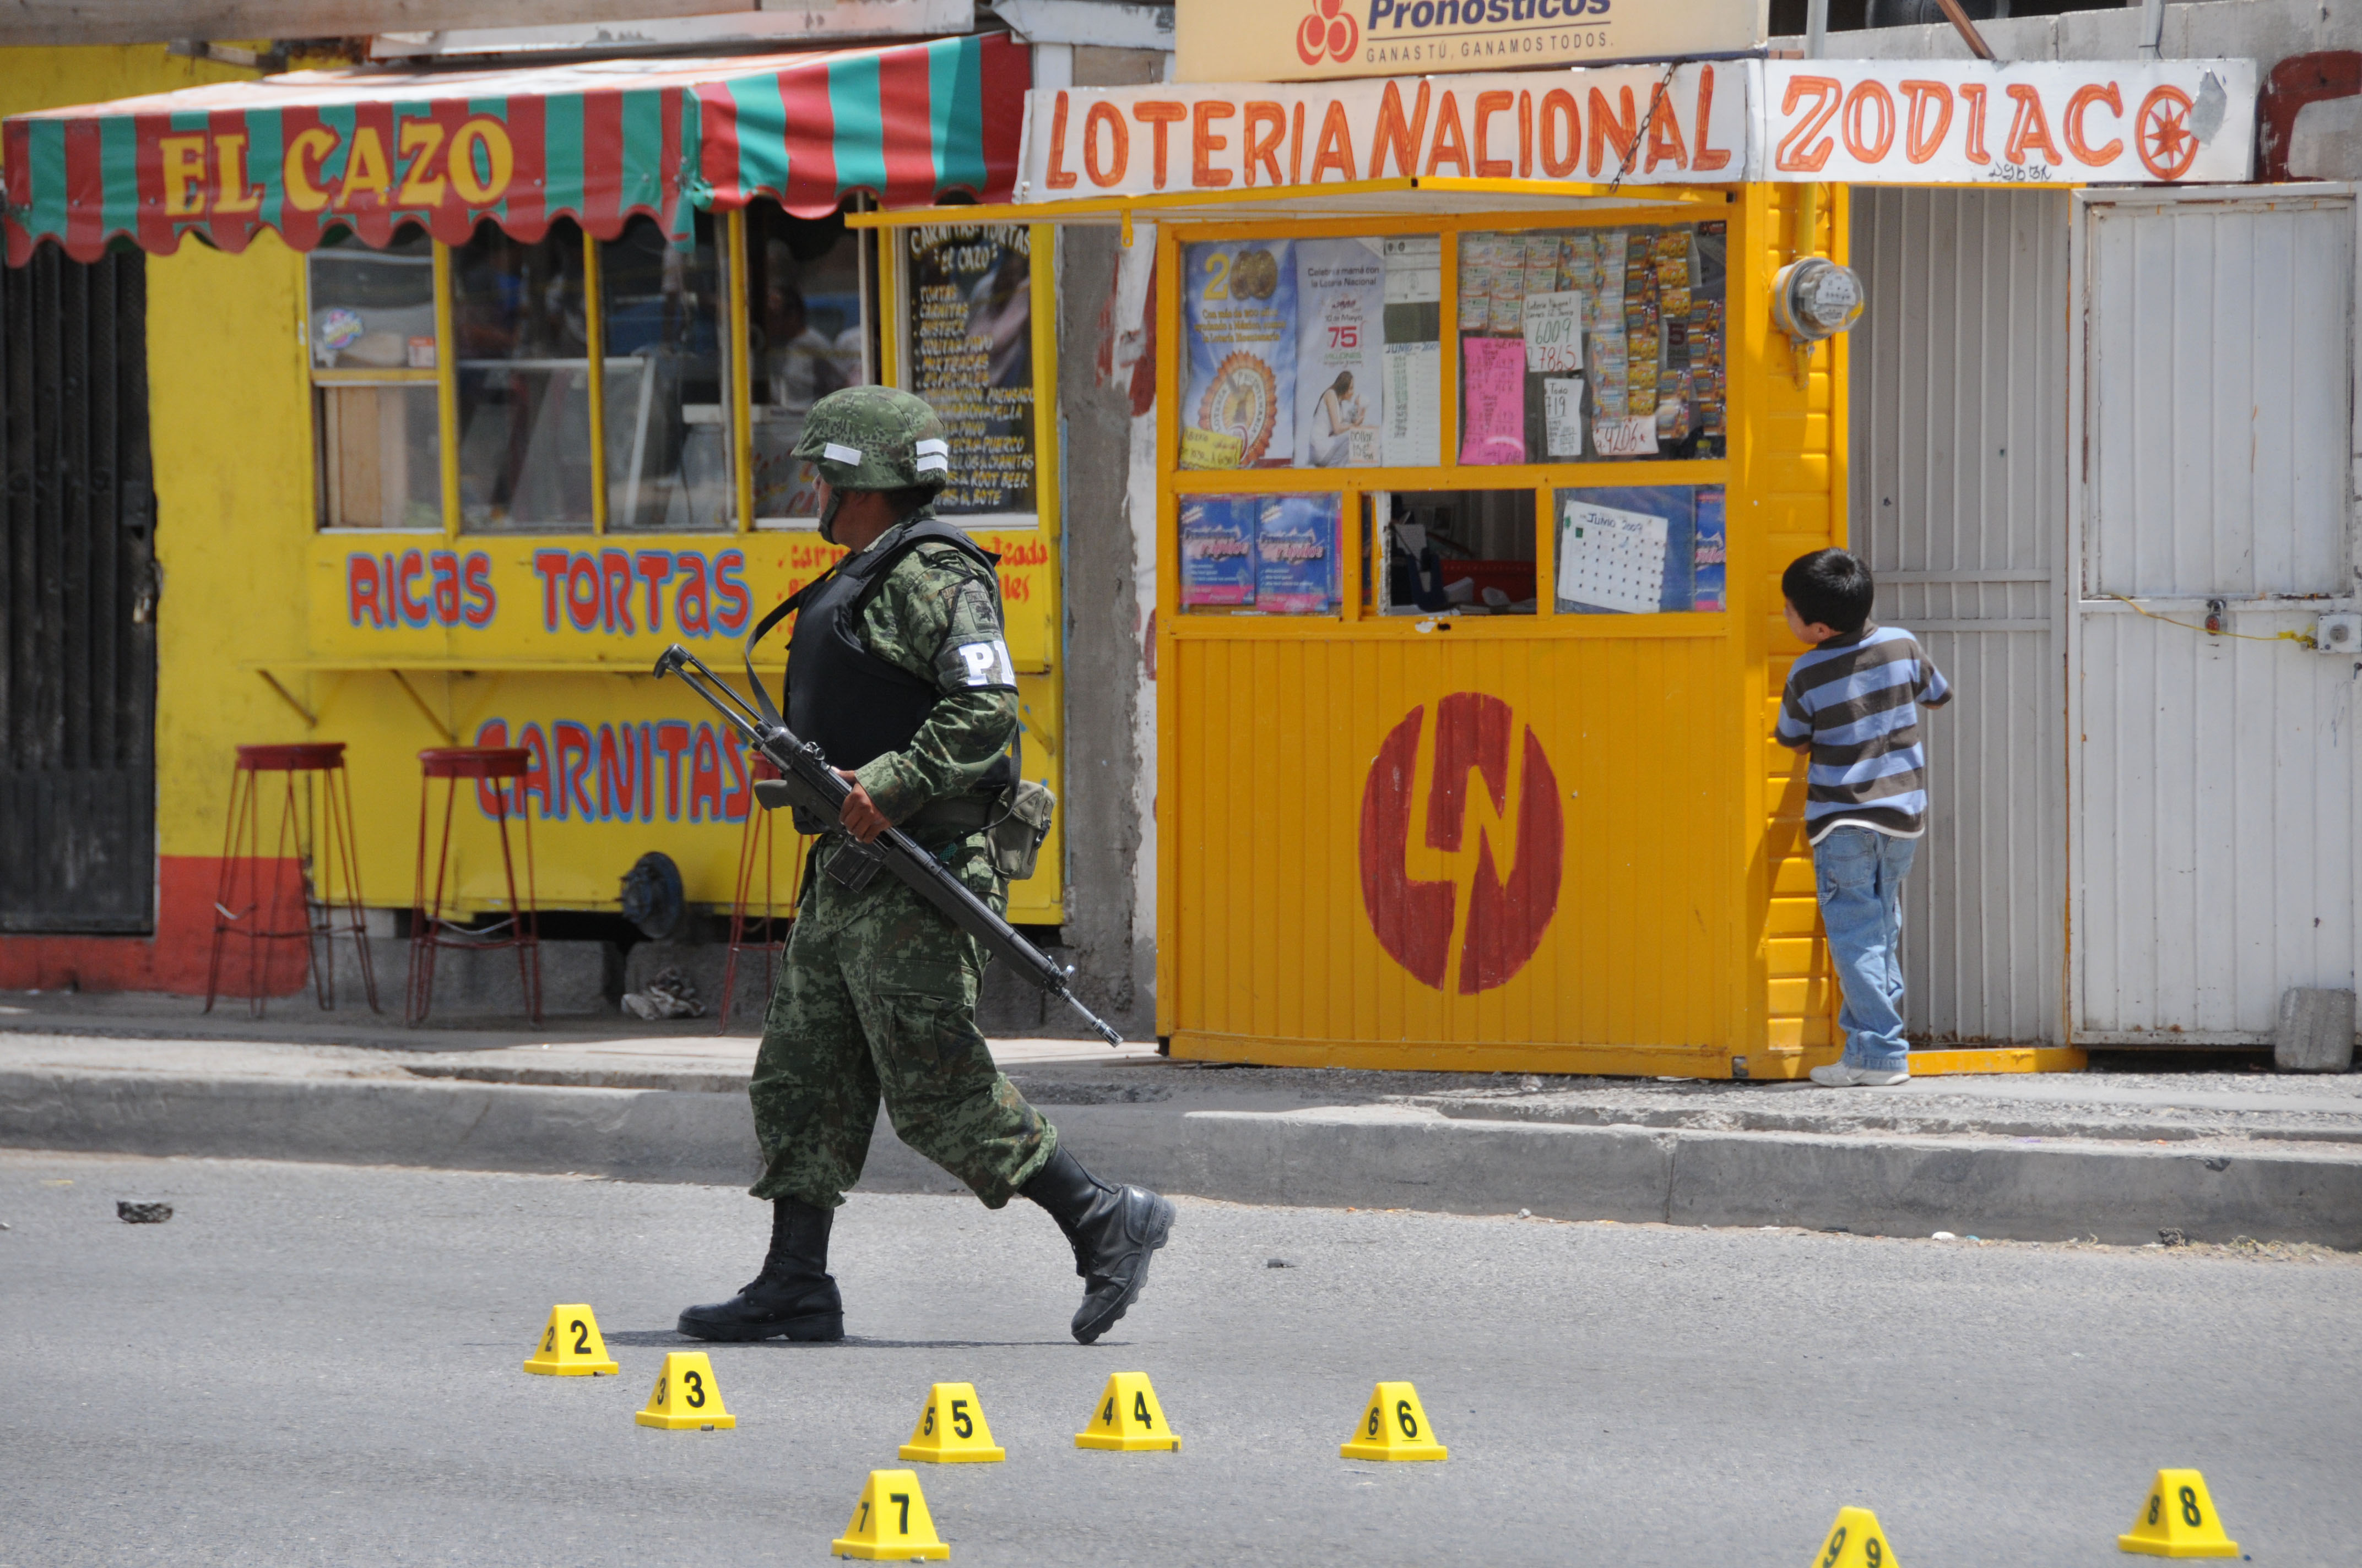
[[[1245,1204],[1675,1226],[2152,1242],[2242,1235],[2362,1249],[2362,1155],[1571,1126],[1417,1105],[1287,1112],[1058,1105],[1110,1176]],[[957,1193],[883,1126],[862,1188]],[[746,1185],[744,1093],[465,1079],[0,1072],[0,1145]]]

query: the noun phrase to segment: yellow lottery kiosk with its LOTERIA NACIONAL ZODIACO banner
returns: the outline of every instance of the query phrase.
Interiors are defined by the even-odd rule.
[[[1833,1060],[1805,779],[1772,723],[1802,652],[1779,574],[1845,543],[1847,191],[2237,179],[2242,68],[1035,92],[1018,201],[990,217],[1155,224],[1167,1048]]]

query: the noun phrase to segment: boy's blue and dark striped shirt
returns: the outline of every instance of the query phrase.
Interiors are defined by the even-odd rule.
[[[1866,827],[1927,831],[1927,749],[1918,711],[1951,701],[1951,682],[1901,626],[1864,626],[1795,661],[1779,699],[1779,744],[1812,749],[1805,834]]]

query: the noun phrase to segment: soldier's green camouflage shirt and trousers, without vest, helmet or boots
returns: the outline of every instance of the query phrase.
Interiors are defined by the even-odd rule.
[[[872,550],[893,548],[900,531]],[[855,770],[876,808],[902,822],[928,801],[976,786],[1016,734],[1016,692],[971,690],[959,656],[961,647],[1001,638],[999,595],[952,545],[919,545],[886,574],[860,635],[872,654],[940,692],[905,751]],[[978,897],[1006,909],[1009,890],[980,831],[912,836]],[[827,876],[846,843],[841,831],[822,836],[805,867],[753,1065],[763,1178],[751,1193],[841,1204],[860,1181],[883,1091],[902,1143],[999,1209],[1049,1162],[1058,1133],[992,1065],[976,1027],[987,954],[888,874],[860,893]]]

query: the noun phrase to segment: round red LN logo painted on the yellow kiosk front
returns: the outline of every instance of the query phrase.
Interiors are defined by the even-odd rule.
[[[1394,961],[1436,989],[1443,989],[1450,971],[1457,928],[1460,994],[1472,997],[1507,982],[1542,945],[1549,916],[1559,909],[1566,812],[1559,805],[1559,777],[1528,725],[1516,791],[1516,843],[1507,845],[1507,881],[1500,874],[1493,834],[1481,827],[1464,900],[1457,881],[1415,878],[1410,829],[1424,720],[1427,708],[1412,708],[1370,763],[1370,779],[1361,791],[1361,902]],[[1429,850],[1460,852],[1472,805],[1469,775],[1483,784],[1495,829],[1507,827],[1514,727],[1514,713],[1500,697],[1453,692],[1436,704],[1424,812]]]

